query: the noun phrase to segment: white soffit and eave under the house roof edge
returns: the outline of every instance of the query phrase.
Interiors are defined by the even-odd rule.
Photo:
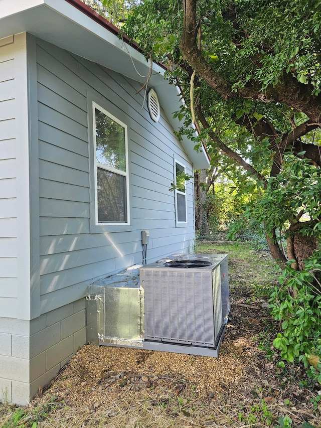
[[[22,32],[33,34],[141,83],[148,76],[149,64],[139,51],[66,0],[0,0],[0,39]],[[148,85],[156,91],[170,122],[178,130],[182,124],[178,118],[173,118],[172,113],[179,109],[181,100],[176,88],[164,78],[164,69],[158,64],[153,63]],[[194,168],[209,167],[205,150],[197,153],[193,142],[187,138],[183,140],[183,146]]]

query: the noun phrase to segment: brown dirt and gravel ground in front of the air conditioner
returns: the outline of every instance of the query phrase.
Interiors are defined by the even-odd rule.
[[[321,426],[320,385],[311,385],[300,367],[278,366],[266,302],[235,286],[234,272],[219,358],[83,346],[31,402],[51,403],[39,426]]]

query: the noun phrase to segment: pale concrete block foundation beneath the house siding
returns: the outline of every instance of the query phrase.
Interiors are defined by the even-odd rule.
[[[85,343],[85,299],[32,321],[0,318],[0,401],[28,404]]]

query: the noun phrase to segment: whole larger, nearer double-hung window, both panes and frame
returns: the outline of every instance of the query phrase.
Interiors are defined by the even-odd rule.
[[[127,126],[93,103],[96,224],[128,224]]]

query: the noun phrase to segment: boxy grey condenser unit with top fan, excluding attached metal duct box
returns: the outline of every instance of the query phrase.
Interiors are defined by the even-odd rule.
[[[217,357],[230,311],[227,255],[173,254],[139,276],[143,348]]]

